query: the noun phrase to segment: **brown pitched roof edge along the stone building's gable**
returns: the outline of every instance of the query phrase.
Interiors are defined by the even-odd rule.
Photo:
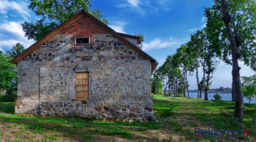
[[[56,34],[58,34],[58,32],[62,31],[63,29],[65,29],[66,27],[68,27],[70,24],[74,23],[76,20],[78,20],[79,18],[81,18],[82,16],[86,16],[86,18],[91,19],[94,23],[96,23],[97,25],[99,25],[100,27],[102,27],[103,29],[105,29],[107,32],[109,32],[110,34],[112,34],[113,36],[115,36],[117,39],[119,39],[120,41],[122,41],[123,43],[125,43],[126,45],[128,45],[129,47],[131,47],[133,50],[135,50],[136,52],[138,52],[139,54],[141,54],[144,58],[151,60],[151,73],[154,71],[154,67],[156,65],[156,60],[154,58],[152,58],[151,56],[149,56],[147,53],[145,53],[144,51],[142,51],[141,49],[139,49],[136,45],[132,44],[131,42],[129,42],[127,39],[125,39],[125,37],[123,36],[128,36],[126,34],[121,34],[121,33],[117,33],[115,32],[113,29],[111,29],[109,26],[105,25],[104,23],[102,23],[101,21],[99,21],[97,18],[95,18],[94,16],[90,15],[89,13],[87,13],[84,10],[79,11],[78,13],[76,13],[75,15],[73,15],[70,19],[68,19],[67,21],[63,22],[62,24],[60,24],[60,26],[56,27],[54,30],[52,30],[49,34],[47,34],[46,36],[42,37],[42,39],[38,40],[36,43],[34,43],[33,45],[31,45],[29,48],[27,48],[26,50],[24,50],[24,52],[22,52],[21,54],[19,54],[18,56],[16,56],[15,58],[13,58],[13,60],[11,60],[13,63],[18,63],[20,60],[22,60],[23,58],[25,58],[26,56],[28,56],[31,52],[33,52],[34,50],[36,50],[38,47],[40,47],[42,44],[44,44],[45,42],[47,42],[49,39],[51,39],[53,36],[55,36]],[[131,35],[130,35],[131,36]],[[133,36],[132,36],[133,37]],[[134,36],[135,37],[135,36]],[[133,38],[134,38],[133,37]]]

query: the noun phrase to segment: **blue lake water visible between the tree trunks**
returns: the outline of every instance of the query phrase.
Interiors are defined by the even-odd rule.
[[[208,100],[214,99],[213,95],[215,93],[208,93]],[[186,95],[188,96],[188,93],[186,93]],[[219,94],[221,95],[221,100],[226,100],[226,101],[231,101],[232,100],[232,95],[231,94]],[[197,97],[197,93],[190,93],[190,97],[196,98]],[[204,98],[204,92],[202,93],[202,98]],[[243,103],[249,103],[249,100],[247,100],[246,98],[243,98]],[[256,100],[254,98],[251,99],[251,103],[256,103]]]

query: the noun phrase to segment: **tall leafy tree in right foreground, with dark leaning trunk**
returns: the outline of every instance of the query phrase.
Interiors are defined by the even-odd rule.
[[[207,27],[221,33],[216,45],[222,47],[222,60],[232,65],[235,90],[235,117],[243,120],[243,95],[241,90],[238,60],[256,70],[256,2],[254,0],[214,0],[212,8],[207,8]],[[215,20],[215,22],[212,22]],[[217,26],[216,26],[217,25]],[[214,33],[214,32],[213,32]],[[215,36],[216,37],[216,36]],[[230,58],[231,55],[231,58]]]

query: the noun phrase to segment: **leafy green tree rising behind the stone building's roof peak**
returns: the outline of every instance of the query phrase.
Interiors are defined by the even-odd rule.
[[[104,24],[108,24],[99,10],[91,9],[91,0],[31,0],[29,9],[34,11],[42,19],[32,22],[24,22],[22,25],[25,36],[35,41],[47,35],[50,31],[75,15],[81,9],[87,11]]]

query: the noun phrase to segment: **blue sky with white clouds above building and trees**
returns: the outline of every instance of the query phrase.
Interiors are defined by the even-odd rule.
[[[28,48],[34,40],[24,37],[21,24],[39,19],[28,9],[30,0],[0,0],[0,50],[6,52],[16,43]],[[100,10],[108,26],[116,32],[143,34],[142,50],[161,66],[167,55],[172,55],[190,35],[206,25],[204,8],[212,0],[92,0],[92,9]],[[241,76],[256,74],[239,63]],[[220,62],[214,72],[211,88],[231,87],[232,66]],[[199,74],[199,77],[202,77]],[[188,76],[190,89],[196,89],[195,76]]]

